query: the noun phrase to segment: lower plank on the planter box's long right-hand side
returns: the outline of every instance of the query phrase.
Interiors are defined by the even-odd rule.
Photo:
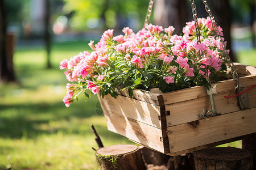
[[[196,128],[189,124],[167,128],[170,153],[255,133],[255,113],[256,108],[251,108],[200,120]]]

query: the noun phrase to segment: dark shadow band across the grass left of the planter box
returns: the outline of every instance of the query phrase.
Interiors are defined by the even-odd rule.
[[[108,133],[105,118],[91,107],[65,108],[62,102],[40,104],[0,105],[0,137],[35,138],[42,134],[92,134],[90,124],[96,123],[97,130]],[[100,120],[101,123],[98,123]],[[109,134],[111,135],[111,134]]]

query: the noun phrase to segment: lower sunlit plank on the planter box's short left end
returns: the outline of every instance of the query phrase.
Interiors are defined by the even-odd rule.
[[[159,152],[168,152],[164,151],[162,130],[154,126],[143,124],[119,114],[111,114],[111,116],[106,117],[106,123],[108,130],[114,133],[121,134]]]

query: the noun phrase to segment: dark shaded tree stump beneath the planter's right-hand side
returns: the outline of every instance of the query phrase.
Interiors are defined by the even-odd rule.
[[[196,151],[195,169],[252,169],[253,157],[250,151],[235,147],[213,147]]]

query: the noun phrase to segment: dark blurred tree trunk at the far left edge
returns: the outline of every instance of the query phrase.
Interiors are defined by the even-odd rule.
[[[13,52],[7,52],[5,6],[0,0],[0,83],[14,82],[15,75],[12,63]]]

